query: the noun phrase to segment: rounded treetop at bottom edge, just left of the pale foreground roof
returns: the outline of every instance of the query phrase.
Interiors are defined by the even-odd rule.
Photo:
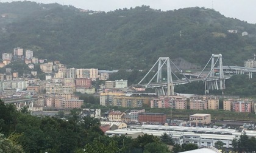
[[[143,153],[168,153],[171,152],[169,151],[168,146],[164,143],[159,143],[159,142],[153,142],[153,143],[148,143],[144,146],[144,151]]]

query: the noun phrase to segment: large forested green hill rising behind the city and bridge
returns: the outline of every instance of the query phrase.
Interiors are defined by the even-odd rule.
[[[69,67],[146,69],[160,56],[204,66],[212,53],[241,66],[256,51],[255,24],[199,7],[82,12],[70,5],[11,2],[0,3],[0,15],[1,53],[23,47]]]

